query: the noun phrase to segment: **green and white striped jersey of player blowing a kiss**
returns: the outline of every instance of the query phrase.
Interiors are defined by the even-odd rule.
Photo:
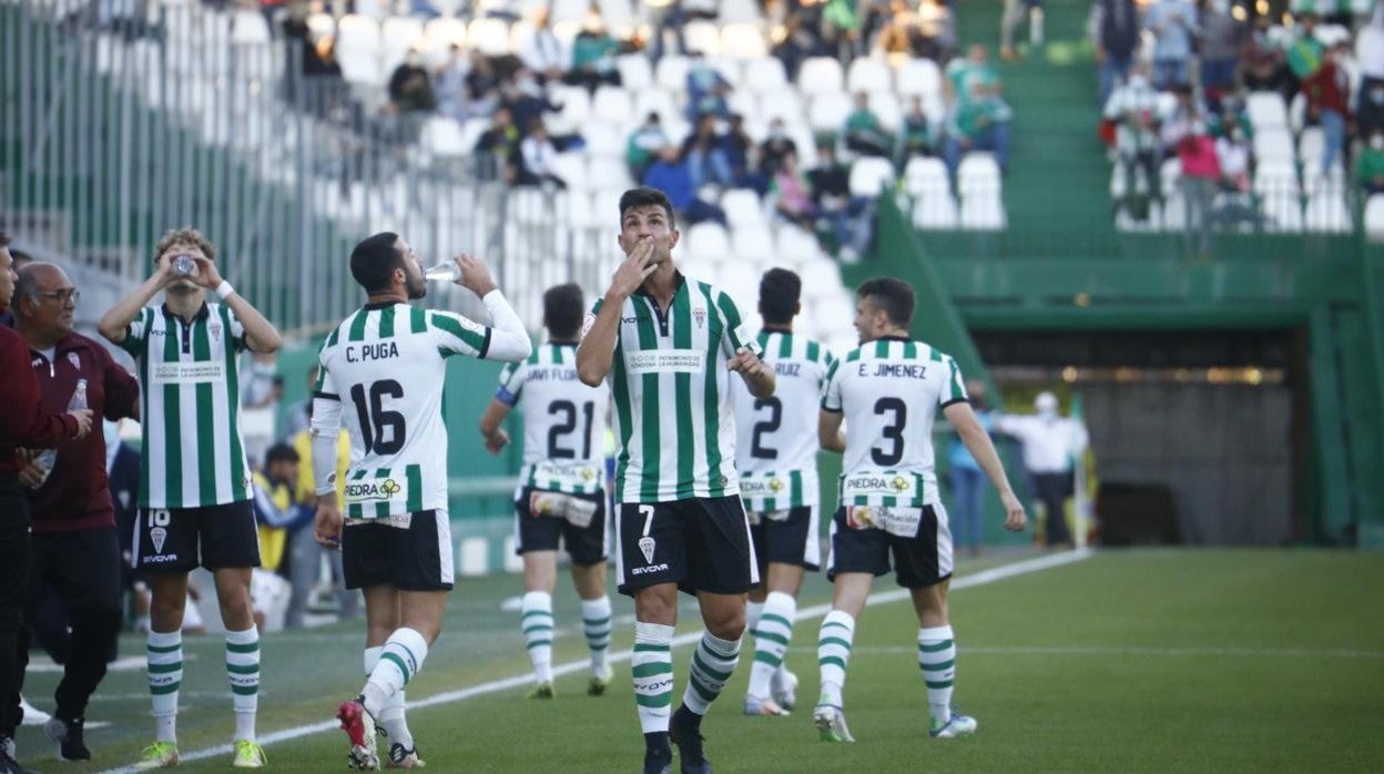
[[[677,276],[671,309],[642,289],[626,299],[610,366],[620,439],[620,503],[739,494],[725,361],[760,345],[720,289]],[[601,312],[603,299],[591,310]],[[590,320],[591,317],[588,317]]]

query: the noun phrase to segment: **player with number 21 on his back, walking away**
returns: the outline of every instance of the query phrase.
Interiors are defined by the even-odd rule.
[[[523,630],[534,688],[529,698],[552,698],[552,588],[558,580],[558,540],[572,557],[572,583],[581,597],[581,624],[591,652],[587,694],[610,683],[610,598],[605,593],[606,508],[605,417],[610,390],[577,381],[577,339],[585,306],[574,284],[543,294],[548,345],[529,360],[505,366],[500,389],[480,417],[491,454],[509,443],[500,424],[523,400],[523,469],[515,492],[515,552],[523,557]]]

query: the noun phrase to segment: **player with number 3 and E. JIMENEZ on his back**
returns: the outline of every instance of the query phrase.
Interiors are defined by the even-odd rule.
[[[894,278],[869,280],[857,292],[855,331],[861,346],[832,366],[818,422],[822,449],[843,451],[840,507],[832,519],[832,612],[817,641],[822,696],[812,720],[823,741],[853,742],[841,688],[855,619],[875,576],[890,569],[908,588],[918,612],[918,666],[927,685],[931,735],[976,731],[976,719],[952,712],[956,642],[947,619],[952,541],[947,510],[933,472],[933,415],[940,406],[956,428],[1005,507],[1005,529],[1024,528],[990,436],[976,420],[956,361],[913,341],[913,289]],[[850,428],[841,433],[841,420]]]

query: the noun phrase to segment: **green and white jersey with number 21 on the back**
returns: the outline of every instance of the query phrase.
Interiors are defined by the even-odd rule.
[[[523,402],[520,486],[595,494],[605,479],[605,417],[610,388],[577,378],[577,345],[534,348],[523,363],[500,372],[495,400]]]

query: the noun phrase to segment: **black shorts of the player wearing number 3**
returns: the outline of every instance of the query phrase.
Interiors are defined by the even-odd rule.
[[[926,588],[951,577],[952,540],[947,510],[940,503],[923,505],[915,537],[900,537],[883,529],[855,529],[846,521],[846,508],[832,518],[832,552],[826,577],[839,572],[868,572],[875,576],[894,570],[904,588]]]

